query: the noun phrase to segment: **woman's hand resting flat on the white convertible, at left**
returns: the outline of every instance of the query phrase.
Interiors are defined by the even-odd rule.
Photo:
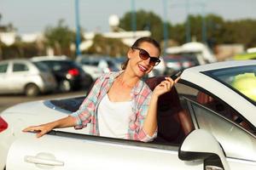
[[[22,130],[22,132],[35,132],[37,133],[37,137],[40,138],[41,136],[44,136],[45,133],[49,133],[49,131],[51,131],[53,128],[54,127],[48,123],[38,126],[26,127]]]

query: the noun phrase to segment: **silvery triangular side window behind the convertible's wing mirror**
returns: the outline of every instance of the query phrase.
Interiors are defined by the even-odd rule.
[[[201,105],[192,103],[192,108],[199,128],[212,133],[228,157],[256,161],[255,136]]]

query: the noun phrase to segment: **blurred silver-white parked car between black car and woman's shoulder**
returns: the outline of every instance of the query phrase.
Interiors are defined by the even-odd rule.
[[[118,65],[115,64],[114,59],[108,56],[81,55],[76,61],[94,80],[96,80],[97,77],[100,77],[102,73],[119,71]]]

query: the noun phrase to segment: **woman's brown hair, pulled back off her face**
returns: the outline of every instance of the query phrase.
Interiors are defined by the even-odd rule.
[[[153,44],[154,47],[159,50],[159,54],[161,53],[161,48],[160,48],[159,42],[154,40],[154,38],[152,38],[152,37],[140,37],[140,38],[138,38],[136,40],[136,42],[134,42],[133,45],[131,46],[131,50],[132,50],[132,47],[139,47],[140,44],[142,44],[143,42],[148,42],[148,43]],[[126,66],[128,65],[128,62],[129,62],[129,59],[126,59],[125,62],[121,66],[122,70],[125,70]]]

